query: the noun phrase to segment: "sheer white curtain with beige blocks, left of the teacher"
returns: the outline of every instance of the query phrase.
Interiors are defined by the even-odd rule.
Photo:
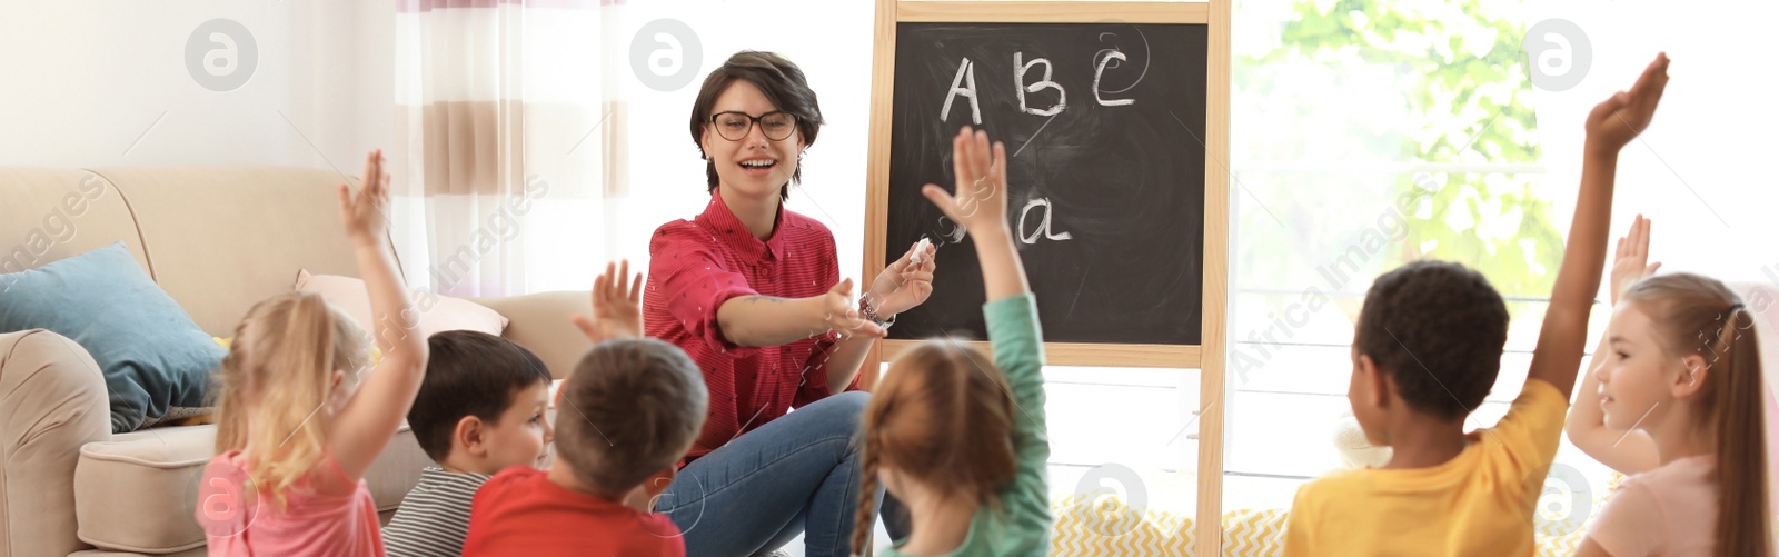
[[[585,288],[626,192],[600,2],[404,0],[395,30],[395,242],[452,295]]]

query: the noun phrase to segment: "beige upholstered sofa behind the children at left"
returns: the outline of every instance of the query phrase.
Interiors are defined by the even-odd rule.
[[[290,167],[0,167],[0,272],[123,240],[199,327],[233,336],[297,270],[358,274],[340,182]],[[477,303],[511,319],[505,336],[557,377],[589,347],[566,319],[589,311],[585,292]],[[213,425],[112,434],[105,383],[80,345],[41,329],[0,335],[0,557],[203,555],[192,498],[213,440]],[[366,473],[384,520],[427,463],[402,427]]]

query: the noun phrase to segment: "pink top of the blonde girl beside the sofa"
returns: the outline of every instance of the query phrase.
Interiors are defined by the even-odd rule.
[[[313,477],[302,479],[285,493],[279,509],[269,493],[242,496],[249,482],[238,456],[240,450],[229,450],[210,459],[197,486],[196,518],[210,555],[382,557],[377,504],[363,479],[349,495],[317,493]],[[322,457],[315,473],[352,482],[333,456]]]

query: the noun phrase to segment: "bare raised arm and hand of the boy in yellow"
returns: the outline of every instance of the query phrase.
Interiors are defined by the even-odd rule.
[[[1667,87],[1667,55],[1637,78],[1630,93],[1617,93],[1601,101],[1587,116],[1587,142],[1582,158],[1582,192],[1569,224],[1569,242],[1564,246],[1562,269],[1551,292],[1539,343],[1532,354],[1526,379],[1541,379],[1557,386],[1569,399],[1574,375],[1582,367],[1587,345],[1587,317],[1599,292],[1599,269],[1606,262],[1606,228],[1612,221],[1612,187],[1622,149],[1642,133],[1654,117],[1656,103]]]

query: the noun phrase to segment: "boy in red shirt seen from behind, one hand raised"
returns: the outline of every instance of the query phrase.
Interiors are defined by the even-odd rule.
[[[628,304],[596,299],[598,320],[576,319],[596,345],[562,383],[555,463],[482,484],[463,555],[685,555],[680,529],[649,505],[703,429],[710,395],[685,351],[633,338],[639,294]]]

